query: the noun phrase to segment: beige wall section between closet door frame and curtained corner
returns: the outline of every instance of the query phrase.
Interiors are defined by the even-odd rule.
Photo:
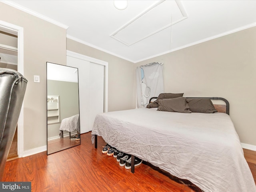
[[[69,38],[67,50],[108,62],[108,111],[136,107],[135,70],[132,62]]]

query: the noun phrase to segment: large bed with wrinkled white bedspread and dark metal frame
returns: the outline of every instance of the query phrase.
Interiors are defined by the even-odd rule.
[[[111,146],[131,154],[132,160],[141,158],[204,192],[255,192],[252,173],[227,114],[228,101],[223,100],[226,113],[158,111],[159,104],[158,108],[98,114],[92,142],[97,147],[97,136],[102,136]],[[221,105],[216,108],[222,109]]]

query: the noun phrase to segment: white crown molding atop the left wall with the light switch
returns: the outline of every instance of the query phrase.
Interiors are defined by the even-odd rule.
[[[1,0],[0,2],[2,2],[2,3],[4,3],[4,4],[7,4],[7,5],[9,5],[9,6],[12,6],[12,7],[16,8],[16,9],[22,10],[22,11],[28,13],[28,14],[31,14],[31,15],[33,15],[33,16],[36,16],[36,17],[38,17],[38,18],[40,18],[40,19],[43,19],[43,20],[45,20],[45,21],[48,21],[48,22],[50,22],[50,23],[52,23],[52,24],[54,24],[54,25],[57,25],[57,26],[59,26],[59,27],[62,27],[62,28],[64,28],[64,29],[68,29],[68,26],[66,26],[66,25],[64,25],[64,24],[62,24],[62,23],[60,23],[60,22],[58,22],[58,21],[56,21],[56,20],[53,20],[53,19],[51,19],[51,18],[49,18],[49,17],[46,17],[46,16],[44,16],[44,15],[38,13],[38,12],[35,12],[35,11],[30,10],[30,9],[28,9],[28,8],[25,8],[25,7],[23,7],[23,6],[19,5],[19,4],[14,3],[14,2],[11,2],[11,1],[8,1],[8,0]]]

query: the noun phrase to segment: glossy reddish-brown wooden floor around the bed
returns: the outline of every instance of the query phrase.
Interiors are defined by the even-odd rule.
[[[81,145],[54,154],[46,152],[6,162],[2,181],[30,181],[32,192],[194,192],[152,167],[141,164],[135,173],[119,166],[116,158],[102,154],[105,144],[98,137],[98,149],[91,134],[81,135]],[[250,161],[256,154],[245,150]],[[254,156],[254,157],[253,157]],[[248,162],[254,180],[256,164]]]

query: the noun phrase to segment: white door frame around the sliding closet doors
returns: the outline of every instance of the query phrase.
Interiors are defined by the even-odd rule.
[[[104,66],[104,112],[108,112],[108,62],[67,50],[67,56]]]

